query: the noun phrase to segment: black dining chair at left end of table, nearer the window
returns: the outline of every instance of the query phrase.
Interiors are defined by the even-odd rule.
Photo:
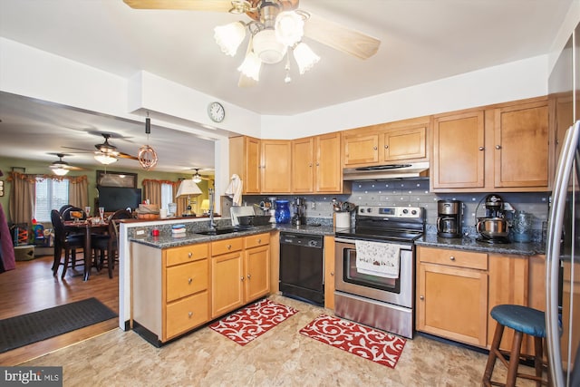
[[[61,278],[64,278],[66,269],[69,267],[69,261],[71,261],[71,267],[76,266],[77,249],[82,250],[84,239],[82,235],[72,235],[66,230],[63,218],[56,209],[51,211],[51,221],[53,222],[54,230],[53,276],[56,276],[58,273],[58,267],[63,266]],[[82,259],[80,262],[84,266],[84,260]]]

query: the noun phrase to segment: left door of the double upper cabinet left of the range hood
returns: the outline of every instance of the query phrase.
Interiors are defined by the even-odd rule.
[[[314,191],[314,138],[292,141],[292,191]],[[339,161],[340,163],[340,161]]]

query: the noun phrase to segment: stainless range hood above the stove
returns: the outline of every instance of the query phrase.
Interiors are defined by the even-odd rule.
[[[429,179],[429,162],[345,168],[343,180]]]

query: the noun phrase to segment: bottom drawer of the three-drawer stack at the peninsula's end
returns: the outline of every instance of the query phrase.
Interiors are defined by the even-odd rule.
[[[167,305],[166,339],[206,323],[209,320],[208,300],[206,291]]]

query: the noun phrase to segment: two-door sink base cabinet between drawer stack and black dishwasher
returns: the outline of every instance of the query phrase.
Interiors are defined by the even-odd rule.
[[[268,233],[211,243],[211,316],[217,318],[270,290]]]

